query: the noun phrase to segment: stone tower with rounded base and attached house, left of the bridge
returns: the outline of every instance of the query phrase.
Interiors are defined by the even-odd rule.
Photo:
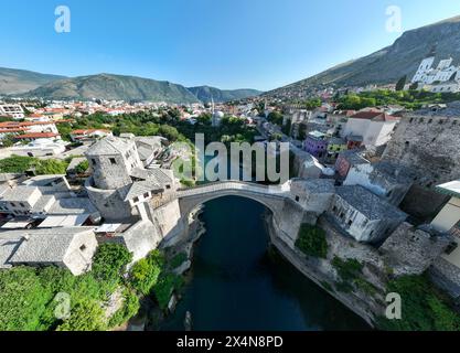
[[[158,203],[176,188],[171,171],[145,169],[133,138],[107,137],[94,143],[86,157],[93,169],[86,190],[106,220],[152,221],[154,200]]]

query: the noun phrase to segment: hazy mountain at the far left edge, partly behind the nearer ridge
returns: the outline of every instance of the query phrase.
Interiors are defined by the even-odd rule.
[[[25,69],[0,67],[0,95],[22,94],[39,86],[63,79],[65,76],[46,75]]]

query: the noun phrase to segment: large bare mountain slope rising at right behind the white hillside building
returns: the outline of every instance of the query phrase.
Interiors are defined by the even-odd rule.
[[[307,79],[266,93],[267,96],[307,96],[327,86],[366,86],[413,77],[420,61],[436,46],[436,62],[452,57],[460,65],[460,15],[404,32],[395,43],[362,58],[327,69]]]

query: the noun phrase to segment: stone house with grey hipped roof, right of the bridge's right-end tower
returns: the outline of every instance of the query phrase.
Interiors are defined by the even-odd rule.
[[[361,185],[335,188],[328,214],[359,242],[388,237],[407,215]]]

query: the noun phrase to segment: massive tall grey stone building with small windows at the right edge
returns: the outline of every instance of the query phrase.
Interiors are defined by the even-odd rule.
[[[405,115],[382,159],[397,161],[416,172],[402,208],[430,220],[447,202],[437,184],[460,178],[460,101]]]

